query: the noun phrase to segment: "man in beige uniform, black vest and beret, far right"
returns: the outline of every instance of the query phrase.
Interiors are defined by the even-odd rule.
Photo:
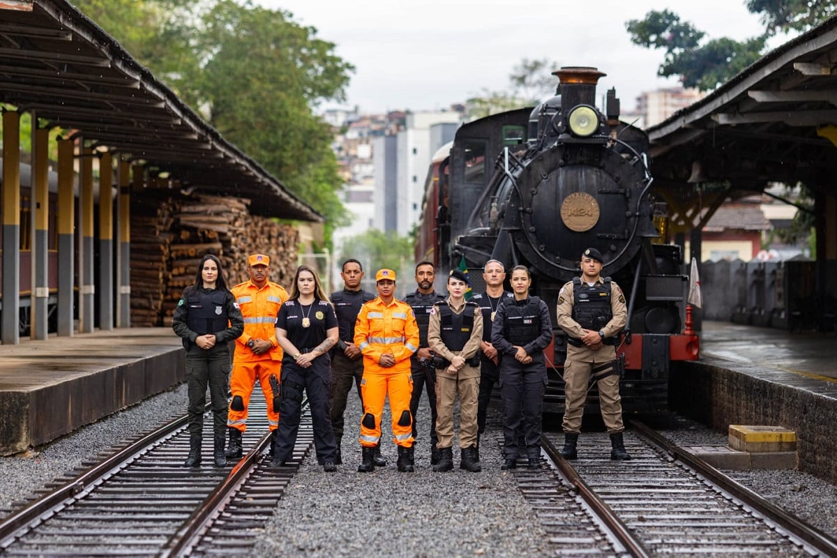
[[[628,309],[619,285],[609,277],[601,277],[603,264],[602,253],[596,248],[584,250],[581,277],[564,284],[558,293],[557,324],[567,334],[564,447],[561,450],[567,459],[578,457],[576,444],[591,375],[598,383],[599,407],[604,426],[610,433],[610,458],[630,459],[622,435],[624,424],[615,348],[619,333],[628,322]]]

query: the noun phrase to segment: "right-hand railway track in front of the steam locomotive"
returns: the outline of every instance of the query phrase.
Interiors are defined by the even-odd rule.
[[[559,555],[837,555],[837,541],[641,423],[625,440],[630,461],[609,459],[606,434],[585,433],[568,462],[562,434],[545,435],[547,467],[516,469]]]

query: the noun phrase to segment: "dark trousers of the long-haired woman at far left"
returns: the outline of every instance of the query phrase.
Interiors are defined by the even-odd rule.
[[[192,436],[203,435],[203,407],[207,403],[207,387],[212,400],[213,435],[227,433],[227,393],[229,372],[233,369],[229,347],[213,346],[208,351],[191,343],[186,351],[186,381],[189,396],[188,431]]]

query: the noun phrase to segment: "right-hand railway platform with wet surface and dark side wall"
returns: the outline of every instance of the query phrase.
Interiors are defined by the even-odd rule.
[[[730,424],[796,432],[799,468],[837,482],[837,336],[704,321],[701,360],[671,373],[670,407],[726,433]]]

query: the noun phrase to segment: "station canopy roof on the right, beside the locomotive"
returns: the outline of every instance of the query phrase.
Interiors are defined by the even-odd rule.
[[[655,187],[761,191],[768,182],[829,187],[837,177],[837,18],[744,69],[648,129]]]

